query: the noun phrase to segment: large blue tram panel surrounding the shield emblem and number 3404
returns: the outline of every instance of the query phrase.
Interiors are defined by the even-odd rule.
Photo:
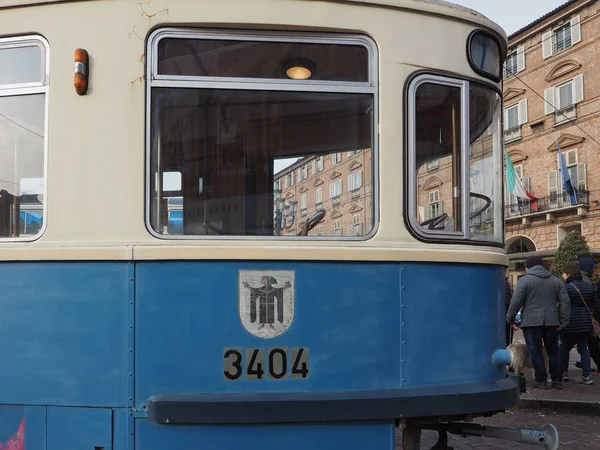
[[[295,316],[247,332],[238,270],[295,270]],[[400,380],[399,269],[392,264],[149,262],[136,265],[136,402],[156,394],[386,389]],[[228,382],[224,347],[308,347],[308,380]]]

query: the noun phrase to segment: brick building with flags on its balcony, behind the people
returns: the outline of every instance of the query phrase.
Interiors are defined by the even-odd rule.
[[[552,258],[572,230],[600,249],[600,1],[571,0],[509,36],[504,136],[518,176],[537,201],[506,195],[513,281],[532,253]],[[571,181],[562,187],[556,140]]]

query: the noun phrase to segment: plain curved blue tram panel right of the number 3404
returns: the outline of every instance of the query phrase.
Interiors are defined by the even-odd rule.
[[[406,264],[402,272],[406,386],[493,381],[504,343],[504,268]]]

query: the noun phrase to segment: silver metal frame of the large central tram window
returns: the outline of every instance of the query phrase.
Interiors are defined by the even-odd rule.
[[[334,44],[334,45],[361,45],[368,52],[368,81],[324,81],[324,80],[291,80],[271,78],[236,78],[236,77],[202,77],[202,76],[179,76],[161,75],[158,73],[158,47],[162,39],[207,39],[207,40],[239,40],[239,41],[262,41],[276,43],[307,43],[307,44]],[[379,50],[375,41],[362,34],[348,33],[318,33],[318,32],[279,32],[266,30],[224,30],[210,28],[189,27],[161,27],[152,32],[146,43],[146,101],[145,101],[145,217],[144,222],[148,232],[156,239],[173,241],[310,241],[310,240],[350,240],[367,241],[373,238],[380,225],[380,181],[379,181]],[[188,88],[188,89],[243,89],[261,91],[287,91],[287,92],[313,92],[313,93],[348,93],[369,94],[373,98],[372,114],[372,227],[369,233],[363,236],[244,236],[244,235],[165,235],[157,232],[152,227],[151,215],[151,158],[152,158],[152,90],[153,88]],[[324,156],[324,155],[323,155]],[[160,170],[160,168],[159,168]],[[323,170],[325,164],[323,161]]]

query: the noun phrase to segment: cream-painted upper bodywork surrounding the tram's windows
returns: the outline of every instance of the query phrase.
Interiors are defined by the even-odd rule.
[[[230,27],[358,32],[375,39],[380,52],[380,174],[387,184],[380,189],[378,234],[369,242],[353,245],[393,242],[423,247],[406,230],[401,210],[404,83],[410,73],[427,66],[483,80],[472,72],[465,56],[466,39],[473,27],[409,10],[315,1],[307,7],[307,3],[262,0],[252,2],[248,9],[248,0],[152,0],[141,4],[137,0],[96,0],[0,10],[2,34],[20,34],[24,31],[21,24],[26,23],[27,31],[44,35],[51,48],[48,228],[40,240],[28,245],[119,242],[153,246],[152,250],[140,248],[140,257],[159,251],[172,257],[167,255],[177,254],[175,246],[189,245],[189,241],[157,240],[144,224],[144,39],[158,25],[228,23]],[[61,20],[48,20],[49,13]],[[277,26],[269,25],[273,23]],[[419,39],[425,29],[431,39]],[[84,97],[75,93],[72,84],[73,53],[78,47],[88,50],[91,59],[90,91]],[[213,244],[222,246],[223,242],[207,247]],[[224,245],[246,247],[237,240]],[[281,245],[291,244],[252,243],[254,256],[247,257],[262,257],[270,247],[277,254]],[[161,246],[168,250],[160,250]],[[316,258],[312,244],[306,246],[310,250],[298,250],[298,254],[312,252]],[[324,253],[319,257],[331,255],[333,247],[339,247],[339,242],[320,242]],[[355,251],[348,250],[348,254]]]

